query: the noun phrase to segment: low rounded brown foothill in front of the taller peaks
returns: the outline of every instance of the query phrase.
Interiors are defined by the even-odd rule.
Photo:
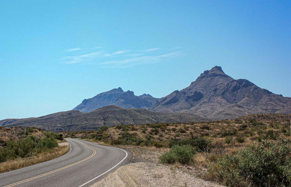
[[[146,109],[124,109],[109,105],[98,108],[89,113],[77,110],[58,112],[38,118],[27,118],[21,121],[7,123],[5,127],[23,126],[38,127],[51,131],[82,131],[97,130],[102,125],[109,127],[114,125],[139,125],[146,123],[175,123],[175,122],[199,122],[209,119],[196,114],[178,114],[152,112]]]

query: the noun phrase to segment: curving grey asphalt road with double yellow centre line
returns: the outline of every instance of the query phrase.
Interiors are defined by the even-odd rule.
[[[54,160],[0,174],[0,186],[90,186],[132,158],[127,150],[66,139],[68,153]]]

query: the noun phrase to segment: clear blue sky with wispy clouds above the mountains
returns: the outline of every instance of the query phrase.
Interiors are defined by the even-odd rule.
[[[121,87],[164,97],[214,66],[291,97],[291,1],[0,1],[0,120]]]

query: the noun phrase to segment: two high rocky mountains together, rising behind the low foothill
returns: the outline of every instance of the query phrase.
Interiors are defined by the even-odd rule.
[[[201,73],[189,87],[173,91],[160,99],[149,94],[135,96],[132,91],[124,92],[118,88],[85,99],[73,110],[87,113],[107,105],[197,114],[212,120],[235,119],[257,113],[291,112],[290,97],[273,94],[246,79],[235,80],[226,75],[220,66]]]

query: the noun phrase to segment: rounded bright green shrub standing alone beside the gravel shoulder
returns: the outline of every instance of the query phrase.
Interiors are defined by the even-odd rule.
[[[169,152],[162,154],[159,159],[161,163],[189,164],[193,162],[193,155],[196,151],[189,145],[175,145]]]

